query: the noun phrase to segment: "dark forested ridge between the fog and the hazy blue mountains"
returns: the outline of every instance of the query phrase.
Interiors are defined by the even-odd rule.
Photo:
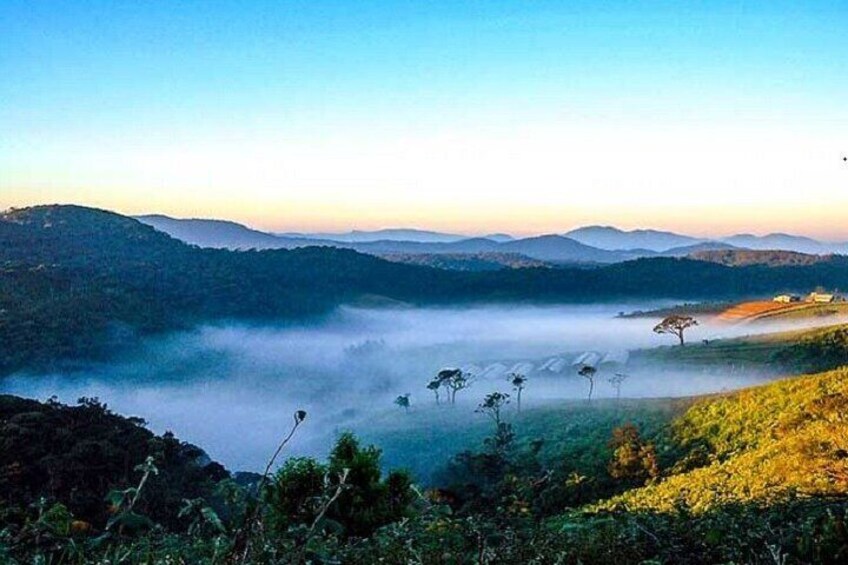
[[[200,249],[78,206],[0,216],[0,374],[97,356],[137,334],[315,316],[363,296],[416,305],[733,298],[848,287],[848,260],[728,267],[675,258],[598,269],[452,272],[330,247]]]

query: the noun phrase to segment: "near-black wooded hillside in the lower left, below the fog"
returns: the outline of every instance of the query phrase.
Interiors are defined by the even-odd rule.
[[[182,499],[208,496],[229,476],[200,448],[171,434],[156,436],[143,420],[114,414],[96,400],[65,406],[0,395],[3,522],[18,522],[44,497],[103,528],[109,518],[106,495],[135,484],[135,468],[148,455],[155,457],[158,474],[137,509],[165,524],[178,523]]]

